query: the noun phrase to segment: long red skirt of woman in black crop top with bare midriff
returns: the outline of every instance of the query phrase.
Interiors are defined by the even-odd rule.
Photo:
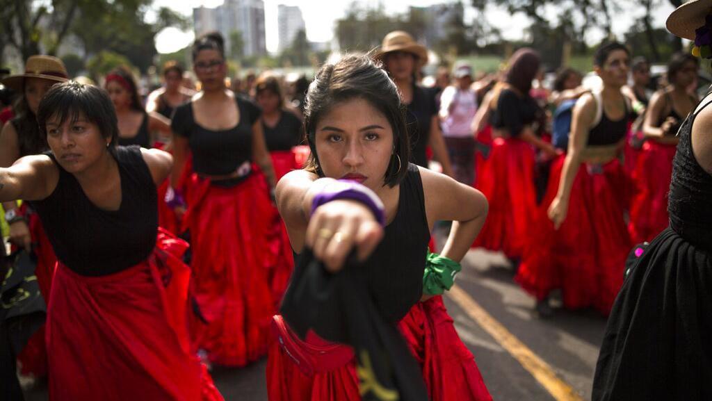
[[[532,241],[515,280],[538,300],[561,288],[566,308],[593,306],[607,315],[632,249],[624,222],[627,179],[618,160],[581,165],[566,219],[555,230],[547,210],[556,196],[564,159],[559,157],[551,167],[547,192],[530,231]]]

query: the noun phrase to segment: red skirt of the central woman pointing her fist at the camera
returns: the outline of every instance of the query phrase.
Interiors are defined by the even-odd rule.
[[[398,328],[422,368],[430,400],[492,400],[472,353],[455,331],[441,296],[417,303]],[[269,400],[361,399],[352,348],[326,343],[315,335],[308,335],[304,342],[288,329],[279,333],[267,362]],[[292,352],[300,355],[290,353],[282,343],[290,344]],[[313,366],[304,366],[305,360]]]

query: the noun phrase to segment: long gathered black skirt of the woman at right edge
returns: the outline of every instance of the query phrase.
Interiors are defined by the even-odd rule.
[[[712,251],[669,228],[646,248],[609,317],[592,400],[712,400]]]

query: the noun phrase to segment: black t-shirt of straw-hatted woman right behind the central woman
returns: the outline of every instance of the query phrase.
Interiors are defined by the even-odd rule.
[[[428,167],[425,148],[430,139],[430,124],[433,116],[438,114],[434,93],[413,85],[413,99],[407,105],[405,122],[410,135],[410,160],[421,167]]]

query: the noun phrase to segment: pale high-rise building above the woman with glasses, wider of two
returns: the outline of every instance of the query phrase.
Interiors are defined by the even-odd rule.
[[[265,6],[262,0],[226,0],[221,6],[193,9],[195,36],[209,31],[219,31],[225,38],[225,51],[229,56],[261,56],[266,53]],[[240,33],[242,54],[232,54],[234,32]]]

